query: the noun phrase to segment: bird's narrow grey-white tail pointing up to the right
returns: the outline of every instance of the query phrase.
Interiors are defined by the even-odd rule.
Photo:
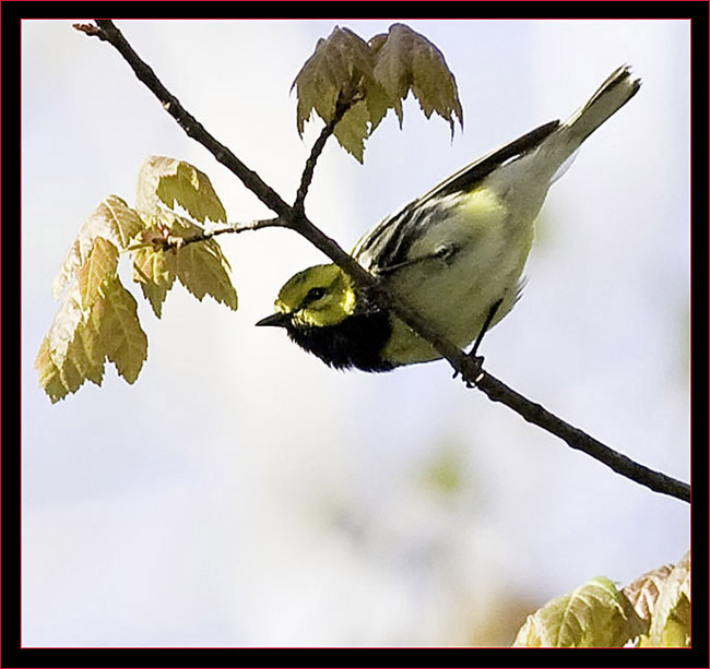
[[[567,129],[573,142],[581,144],[604,121],[628,103],[641,86],[639,79],[634,79],[631,69],[622,65],[612,72],[607,80],[592,95],[589,101],[576,111],[560,130]]]

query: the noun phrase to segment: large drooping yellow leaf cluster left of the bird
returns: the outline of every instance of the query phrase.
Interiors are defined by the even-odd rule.
[[[61,303],[35,360],[39,383],[52,402],[85,381],[100,385],[106,360],[129,383],[138,379],[147,337],[137,301],[119,277],[121,254],[132,261],[133,280],[158,318],[176,279],[199,300],[210,295],[237,308],[229,265],[217,242],[189,243],[204,235],[201,224],[208,219],[224,222],[226,213],[206,175],[158,156],[147,158],[140,170],[135,207],[109,195],[94,210],[54,282],[52,294]]]

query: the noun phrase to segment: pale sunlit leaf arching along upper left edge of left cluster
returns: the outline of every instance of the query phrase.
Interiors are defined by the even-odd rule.
[[[96,238],[110,241],[122,251],[144,227],[145,224],[138,213],[118,195],[106,198],[82,225],[67,251],[52,284],[55,299],[59,299],[76,270],[85,262]]]

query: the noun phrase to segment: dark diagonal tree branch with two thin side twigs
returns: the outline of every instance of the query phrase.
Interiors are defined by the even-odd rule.
[[[74,27],[90,36],[108,41],[114,46],[131,67],[138,79],[157,97],[165,110],[178,122],[185,132],[204,146],[217,162],[222,163],[222,165],[236,175],[246,188],[276,214],[276,218],[268,219],[268,225],[264,222],[262,222],[262,225],[256,225],[259,222],[255,222],[252,227],[247,226],[241,229],[281,226],[297,231],[328,255],[335,264],[347,272],[358,286],[368,290],[377,304],[392,312],[404,321],[417,335],[431,344],[437,353],[449,361],[455,373],[461,374],[466,383],[478,387],[489,399],[505,404],[529,422],[559,437],[570,447],[587,453],[611,467],[617,474],[646,486],[655,492],[668,494],[686,502],[690,501],[690,486],[687,483],[664,474],[653,471],[605,446],[581,430],[573,428],[554,416],[539,404],[530,402],[488,372],[483,371],[481,367],[482,358],[468,356],[463,350],[453,346],[446,337],[442,337],[413,309],[403,303],[402,299],[395,299],[378,278],[366,272],[333,239],[324,235],[305,216],[303,203],[308,192],[318,157],[326,142],[332,135],[338,120],[342,118],[350,106],[345,106],[340,118],[329,123],[318,138],[304,168],[295,204],[294,206],[289,206],[259,175],[250,170],[227,147],[217,142],[194,117],[188,114],[178,99],[165,88],[153,70],[135,53],[111,21],[96,20],[96,26],[82,24],[75,25]],[[223,231],[241,231],[241,229],[225,228],[212,235]],[[201,238],[190,239],[188,243],[200,240]]]

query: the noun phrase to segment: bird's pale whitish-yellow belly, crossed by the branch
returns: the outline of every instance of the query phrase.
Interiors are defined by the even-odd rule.
[[[481,332],[496,301],[502,299],[494,324],[518,297],[540,207],[534,208],[504,208],[484,188],[464,195],[453,215],[412,244],[409,256],[427,260],[395,272],[391,287],[451,343],[466,346]],[[431,258],[442,244],[455,252],[451,258]],[[387,359],[406,365],[440,357],[398,319],[393,326],[395,336],[383,351]]]

